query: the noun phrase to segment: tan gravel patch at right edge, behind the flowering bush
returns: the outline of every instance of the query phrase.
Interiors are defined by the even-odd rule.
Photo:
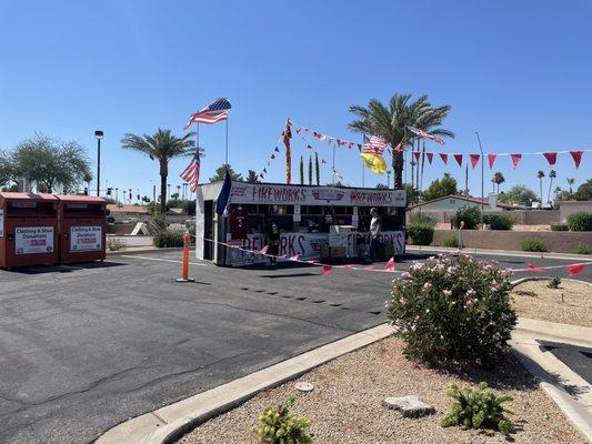
[[[563,280],[559,289],[549,289],[549,282],[524,282],[512,291],[519,316],[592,327],[592,286]]]

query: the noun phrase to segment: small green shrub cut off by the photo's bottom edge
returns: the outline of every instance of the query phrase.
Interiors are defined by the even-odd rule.
[[[257,431],[261,444],[309,444],[312,442],[307,428],[311,422],[290,413],[294,396],[277,410],[265,408],[259,415],[262,425]]]

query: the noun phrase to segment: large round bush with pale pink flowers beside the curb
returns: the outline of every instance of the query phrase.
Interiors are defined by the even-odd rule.
[[[409,357],[492,366],[509,347],[516,323],[511,270],[448,253],[414,263],[394,281],[388,319]]]

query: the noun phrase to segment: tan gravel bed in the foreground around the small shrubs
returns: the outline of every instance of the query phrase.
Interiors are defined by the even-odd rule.
[[[451,400],[444,393],[451,382],[461,386],[486,381],[492,389],[514,396],[510,403],[515,443],[585,443],[559,408],[509,355],[495,371],[473,369],[451,373],[407,360],[402,342],[394,337],[341,356],[299,380],[260,393],[231,412],[192,431],[181,444],[257,443],[258,415],[297,396],[293,413],[312,420],[314,443],[505,443],[499,432],[443,428],[439,425]],[[297,382],[314,385],[310,393],[294,389]],[[407,418],[382,405],[387,396],[418,395],[435,407],[435,414]]]

